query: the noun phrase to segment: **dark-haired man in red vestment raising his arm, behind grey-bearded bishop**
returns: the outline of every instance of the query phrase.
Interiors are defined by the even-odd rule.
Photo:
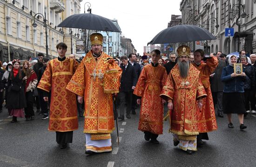
[[[205,62],[203,62],[204,60]],[[194,52],[194,63],[197,70],[200,71],[200,79],[206,91],[207,97],[203,99],[202,111],[199,113],[199,133],[197,136],[197,144],[202,145],[202,139],[209,140],[207,132],[217,130],[215,109],[210,88],[210,75],[215,71],[218,65],[216,57],[205,57],[202,49],[197,49]]]

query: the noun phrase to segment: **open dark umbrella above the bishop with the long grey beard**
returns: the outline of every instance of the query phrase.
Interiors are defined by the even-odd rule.
[[[216,39],[209,31],[193,25],[177,25],[159,32],[148,44],[167,44]]]

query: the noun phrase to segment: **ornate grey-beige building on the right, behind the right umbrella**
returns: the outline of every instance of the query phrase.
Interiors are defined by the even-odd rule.
[[[216,36],[216,40],[204,41],[207,54],[256,52],[256,0],[182,0],[180,11],[182,24],[201,26]],[[229,27],[234,28],[234,37],[225,37]]]

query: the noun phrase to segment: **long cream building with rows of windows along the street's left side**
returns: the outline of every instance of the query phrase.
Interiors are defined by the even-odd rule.
[[[39,52],[46,55],[44,13],[47,19],[49,58],[57,57],[56,45],[63,41],[68,46],[67,54],[70,54],[69,30],[63,29],[64,34],[61,34],[61,29],[57,26],[68,16],[80,13],[80,2],[81,0],[0,0],[0,60],[25,60],[35,57]],[[32,26],[35,14],[36,28]],[[37,16],[40,16],[39,20]],[[77,33],[77,29],[73,29],[73,52],[74,43],[78,39],[74,33]]]

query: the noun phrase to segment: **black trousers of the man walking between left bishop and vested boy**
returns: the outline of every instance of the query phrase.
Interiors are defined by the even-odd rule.
[[[125,103],[127,103],[126,115],[130,115],[131,108],[132,108],[132,95],[133,95],[132,93],[133,92],[131,92],[131,91],[128,91],[128,92],[121,91],[121,92],[119,92],[120,116],[124,115]]]

